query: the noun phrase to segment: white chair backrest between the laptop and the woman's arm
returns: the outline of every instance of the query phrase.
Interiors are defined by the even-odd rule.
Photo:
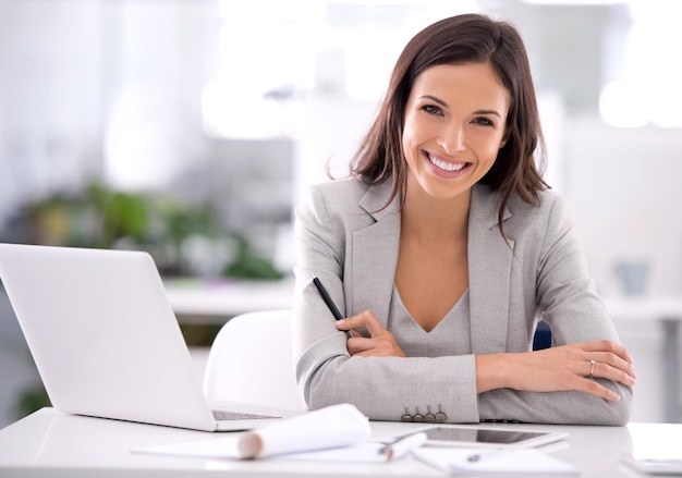
[[[211,344],[204,393],[209,400],[306,409],[294,377],[291,310],[236,316]]]

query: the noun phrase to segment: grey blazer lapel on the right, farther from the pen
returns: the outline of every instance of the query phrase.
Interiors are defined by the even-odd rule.
[[[507,350],[514,242],[500,234],[498,203],[487,186],[475,186],[468,215],[468,291],[472,353]],[[503,219],[511,217],[504,211]]]

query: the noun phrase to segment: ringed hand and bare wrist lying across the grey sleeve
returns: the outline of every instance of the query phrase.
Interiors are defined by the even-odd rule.
[[[480,369],[479,369],[480,360]],[[594,367],[590,360],[595,360]],[[609,401],[620,396],[592,378],[605,378],[633,387],[637,376],[628,351],[601,340],[521,354],[476,357],[478,391],[501,387],[532,392],[579,390]],[[482,390],[484,389],[484,390]]]

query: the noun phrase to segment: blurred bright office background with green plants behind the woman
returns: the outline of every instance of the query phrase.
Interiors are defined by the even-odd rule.
[[[547,176],[600,292],[682,296],[672,1],[0,0],[0,240],[285,279],[297,195],[327,166],[344,174],[405,42],[463,12],[526,41]],[[640,375],[633,420],[665,419],[658,326],[617,321]],[[2,293],[0,427],[35,382]]]

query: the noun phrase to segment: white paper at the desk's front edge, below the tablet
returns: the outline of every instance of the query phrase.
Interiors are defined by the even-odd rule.
[[[535,449],[499,451],[491,449],[454,449],[422,446],[414,456],[450,475],[459,474],[557,474],[577,475],[574,466]],[[472,455],[480,458],[471,462]]]

